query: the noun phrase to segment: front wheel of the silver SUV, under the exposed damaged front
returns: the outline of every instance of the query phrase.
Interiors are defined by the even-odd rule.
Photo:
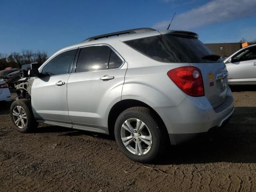
[[[14,101],[10,108],[10,117],[14,128],[19,132],[29,132],[38,126],[28,99]]]

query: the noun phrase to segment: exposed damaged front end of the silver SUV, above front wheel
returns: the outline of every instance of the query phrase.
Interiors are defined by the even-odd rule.
[[[31,99],[31,87],[34,82],[34,78],[26,77],[14,82],[18,99]]]

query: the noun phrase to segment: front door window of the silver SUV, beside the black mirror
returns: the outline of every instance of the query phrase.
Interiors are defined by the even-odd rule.
[[[68,74],[70,65],[74,62],[76,50],[63,52],[50,60],[42,69],[45,76]]]

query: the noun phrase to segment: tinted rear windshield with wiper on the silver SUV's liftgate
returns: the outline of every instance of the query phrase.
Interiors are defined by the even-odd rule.
[[[200,40],[190,36],[182,36],[182,35],[172,35],[166,34],[164,35],[166,39],[168,39],[177,50],[184,56],[187,62],[190,63],[212,63],[212,62],[221,62],[220,59],[208,60],[203,59],[204,56],[213,55],[214,52],[210,50],[205,44],[203,44]]]

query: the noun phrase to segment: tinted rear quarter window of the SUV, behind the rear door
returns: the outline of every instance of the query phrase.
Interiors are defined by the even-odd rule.
[[[125,43],[161,62],[186,62],[176,48],[162,35],[128,40]]]

